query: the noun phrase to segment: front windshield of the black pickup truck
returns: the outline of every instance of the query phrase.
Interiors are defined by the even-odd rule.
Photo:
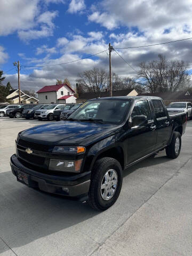
[[[72,121],[75,119],[75,121],[121,124],[130,106],[131,100],[90,100],[74,111],[68,119]]]

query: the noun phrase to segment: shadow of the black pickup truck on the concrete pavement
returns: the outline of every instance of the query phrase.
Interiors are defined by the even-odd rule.
[[[149,157],[125,170],[124,177],[140,167],[167,161],[166,156]],[[11,172],[0,173],[0,194],[0,236],[10,247],[26,245],[100,214],[87,204],[28,188]],[[0,253],[5,250],[0,248]]]

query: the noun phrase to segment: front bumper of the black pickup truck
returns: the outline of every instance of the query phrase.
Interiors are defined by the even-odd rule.
[[[17,172],[29,174],[31,188],[38,188],[42,191],[59,194],[68,197],[75,197],[83,200],[86,198],[89,187],[91,172],[80,173],[76,175],[50,175],[37,172],[23,165],[17,156],[11,156],[10,165],[12,173],[17,176]]]

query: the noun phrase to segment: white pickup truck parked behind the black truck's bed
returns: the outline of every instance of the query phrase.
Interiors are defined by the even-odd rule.
[[[192,104],[191,102],[172,102],[167,107],[168,112],[184,111],[187,114],[187,118],[192,118]]]

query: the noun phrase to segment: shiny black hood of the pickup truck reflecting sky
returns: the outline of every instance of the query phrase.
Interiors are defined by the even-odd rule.
[[[118,127],[90,122],[60,121],[25,130],[20,133],[20,138],[41,145],[87,146],[115,134]]]

